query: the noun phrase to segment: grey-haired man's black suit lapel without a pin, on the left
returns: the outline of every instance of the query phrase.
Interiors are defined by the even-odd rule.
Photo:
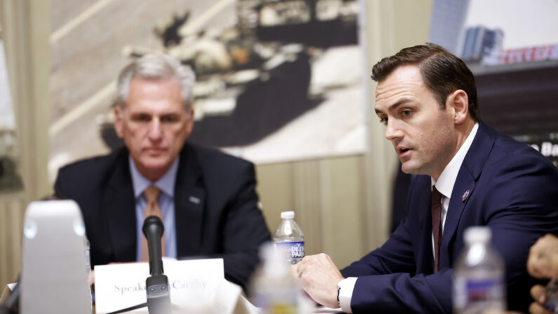
[[[135,261],[135,199],[128,154],[122,153],[109,178],[103,199],[114,261]]]

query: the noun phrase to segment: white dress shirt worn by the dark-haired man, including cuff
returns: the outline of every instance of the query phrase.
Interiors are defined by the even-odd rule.
[[[477,135],[477,130],[479,129],[479,124],[475,123],[473,129],[463,142],[463,145],[453,156],[451,161],[446,165],[444,171],[438,178],[438,181],[430,177],[432,181],[432,186],[436,186],[437,190],[441,193],[441,230],[442,236],[444,232],[444,225],[446,224],[446,216],[448,213],[449,199],[451,198],[451,191],[453,190],[453,185],[456,183],[457,175],[461,164],[463,164],[463,159],[469,151],[471,144],[473,143],[474,136]],[[432,235],[432,257],[434,257],[434,235]],[[354,290],[354,285],[357,284],[358,277],[347,277],[341,280],[337,285],[340,287],[339,290],[339,304],[343,312],[352,313],[351,299],[352,292]]]

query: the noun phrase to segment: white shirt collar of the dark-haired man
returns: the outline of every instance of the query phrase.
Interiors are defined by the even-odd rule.
[[[444,197],[451,198],[451,191],[453,190],[453,185],[456,183],[459,169],[461,168],[461,164],[463,164],[465,155],[467,155],[467,152],[473,143],[474,136],[477,135],[478,129],[479,123],[477,122],[474,124],[469,136],[467,136],[467,139],[465,139],[465,142],[463,142],[463,145],[461,145],[456,155],[453,156],[449,164],[447,164],[446,168],[444,168],[444,171],[441,171],[438,181],[430,177],[432,185],[436,185],[436,189],[441,193],[441,195],[444,195]]]

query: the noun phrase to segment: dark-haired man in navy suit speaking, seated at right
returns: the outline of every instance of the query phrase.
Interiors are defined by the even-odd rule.
[[[558,170],[480,121],[474,77],[444,48],[404,48],[372,73],[385,137],[401,169],[418,175],[407,216],[382,247],[347,268],[319,254],[293,266],[293,275],[315,301],[350,313],[451,313],[464,231],[486,225],[505,261],[508,307],[526,311],[529,247],[558,233]]]

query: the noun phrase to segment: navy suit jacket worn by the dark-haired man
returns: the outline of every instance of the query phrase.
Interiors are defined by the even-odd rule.
[[[353,313],[451,313],[452,267],[472,225],[491,228],[492,244],[505,261],[508,308],[526,312],[534,283],[526,270],[529,248],[538,237],[558,233],[557,168],[528,145],[480,122],[451,192],[436,274],[430,185],[430,176],[417,176],[397,230],[382,247],[341,271],[359,277]]]

